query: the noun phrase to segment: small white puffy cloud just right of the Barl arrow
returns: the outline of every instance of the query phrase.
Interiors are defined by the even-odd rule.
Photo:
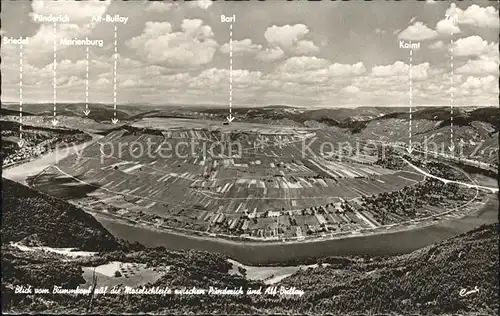
[[[279,47],[285,53],[311,54],[319,51],[310,40],[303,38],[309,34],[309,29],[304,24],[295,25],[273,25],[264,32],[264,37],[271,47]]]

